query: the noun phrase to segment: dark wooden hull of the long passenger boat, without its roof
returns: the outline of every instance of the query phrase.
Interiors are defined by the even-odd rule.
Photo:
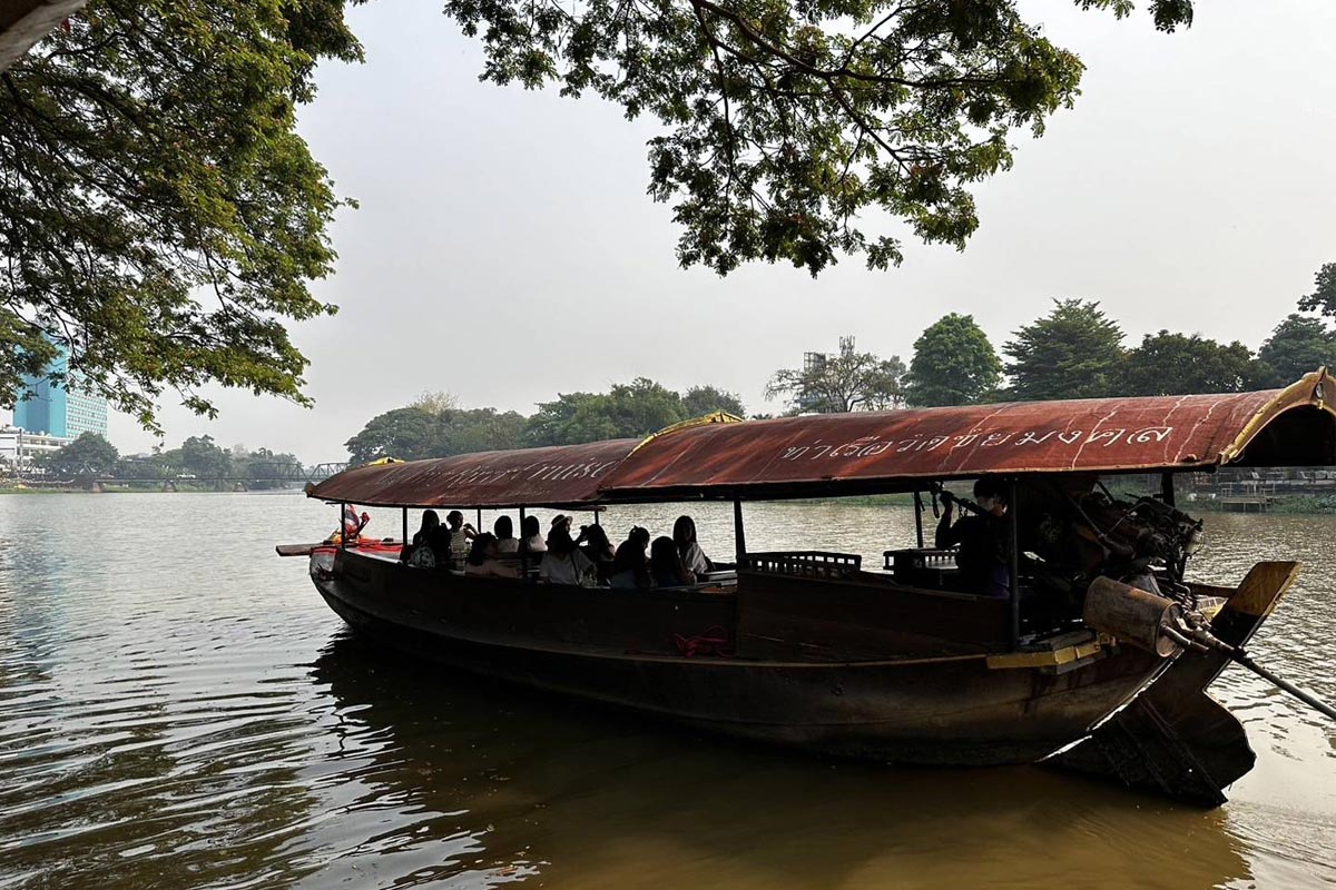
[[[949,766],[1031,763],[1079,739],[1165,664],[1136,650],[1105,651],[1065,673],[990,667],[983,654],[858,662],[687,656],[653,651],[647,638],[681,639],[699,634],[705,622],[725,622],[729,598],[659,608],[657,632],[628,626],[629,644],[615,647],[580,636],[584,630],[587,636],[607,638],[608,622],[595,612],[616,611],[616,592],[591,591],[600,602],[570,591],[568,615],[560,608],[560,588],[452,578],[434,591],[414,591],[395,583],[395,575],[406,571],[411,570],[339,554],[333,571],[315,572],[315,583],[357,631],[452,669],[839,757]],[[493,620],[490,606],[497,602],[509,611],[509,624]],[[516,602],[529,603],[528,622],[522,612],[516,615]],[[655,603],[645,600],[644,610],[653,614]]]

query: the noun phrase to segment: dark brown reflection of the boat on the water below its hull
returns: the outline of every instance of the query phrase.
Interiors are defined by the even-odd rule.
[[[446,827],[476,845],[480,878],[1035,886],[1089,870],[1125,886],[1113,875],[1136,869],[1149,875],[1142,886],[1184,887],[1249,877],[1222,811],[1065,774],[814,762],[456,677],[424,685],[420,664],[355,639],[326,650],[314,677],[343,714],[341,750],[369,761],[361,779],[402,810],[458,814]],[[1178,839],[1148,845],[1150,814]]]

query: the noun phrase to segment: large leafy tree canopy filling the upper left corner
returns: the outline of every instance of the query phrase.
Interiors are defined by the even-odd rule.
[[[333,314],[339,200],[295,131],[342,0],[94,0],[0,73],[0,402],[68,372],[156,428],[164,387],[309,404],[285,322]]]

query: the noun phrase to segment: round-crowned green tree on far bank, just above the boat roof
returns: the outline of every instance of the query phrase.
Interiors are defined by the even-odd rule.
[[[934,322],[914,342],[914,359],[904,378],[908,404],[975,404],[997,391],[1002,360],[973,315],[951,312]]]

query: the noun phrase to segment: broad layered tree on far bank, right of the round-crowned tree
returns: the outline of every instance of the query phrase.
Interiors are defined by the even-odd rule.
[[[1002,347],[1011,358],[1011,398],[1098,399],[1116,395],[1122,363],[1122,330],[1093,300],[1054,300],[1053,311],[1022,327]]]

